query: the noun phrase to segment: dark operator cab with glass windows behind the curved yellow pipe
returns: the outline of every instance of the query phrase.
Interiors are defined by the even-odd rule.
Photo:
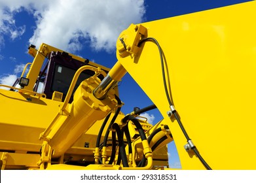
[[[79,61],[72,58],[72,56],[67,52],[50,52],[48,60],[46,61],[43,70],[40,71],[37,81],[35,82],[33,91],[37,93],[45,93],[46,99],[52,99],[54,92],[62,93],[61,101],[64,101],[67,91],[69,90],[69,86],[73,80],[73,76],[76,71],[84,65],[90,65],[90,61],[88,59],[85,59],[84,62]],[[105,71],[105,69],[103,70]],[[107,72],[108,71],[105,71],[105,73]],[[83,71],[75,84],[73,93],[77,90],[77,87],[81,84],[82,80],[85,80],[94,74],[94,71]],[[104,76],[100,75],[98,78],[103,80]],[[20,78],[14,82],[13,86],[19,88],[19,82]],[[73,101],[73,93],[69,103]]]

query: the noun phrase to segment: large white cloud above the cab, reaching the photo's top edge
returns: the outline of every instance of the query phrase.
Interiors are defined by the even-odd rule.
[[[37,16],[32,44],[52,44],[75,52],[82,49],[81,40],[89,40],[95,50],[115,50],[123,29],[141,22],[143,0],[58,1]]]

